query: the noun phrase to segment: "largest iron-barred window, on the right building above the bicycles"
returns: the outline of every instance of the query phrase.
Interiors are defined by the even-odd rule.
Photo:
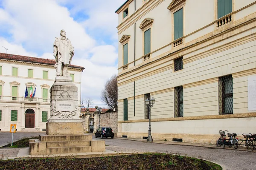
[[[219,77],[219,114],[233,114],[232,75]]]

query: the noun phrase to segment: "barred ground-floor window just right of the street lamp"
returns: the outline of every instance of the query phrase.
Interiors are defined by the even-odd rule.
[[[183,87],[176,87],[175,88],[175,117],[183,117]]]

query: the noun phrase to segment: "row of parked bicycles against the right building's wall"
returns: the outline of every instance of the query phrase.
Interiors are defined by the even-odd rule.
[[[251,150],[256,149],[256,133],[243,133],[245,139],[239,139],[236,133],[227,133],[229,139],[226,138],[225,133],[228,130],[219,130],[221,137],[216,141],[216,146],[218,147],[222,145],[223,149],[225,145],[228,143],[229,147],[234,146],[235,149],[238,148],[239,145],[244,145],[248,149],[250,147]]]

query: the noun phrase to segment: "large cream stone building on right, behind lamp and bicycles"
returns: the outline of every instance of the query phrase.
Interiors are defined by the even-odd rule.
[[[148,136],[152,97],[153,139],[256,132],[255,0],[127,0],[116,13],[118,136]]]

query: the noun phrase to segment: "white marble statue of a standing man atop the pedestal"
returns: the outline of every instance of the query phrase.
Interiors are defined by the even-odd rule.
[[[67,66],[70,65],[74,54],[74,47],[71,41],[66,38],[66,31],[61,30],[61,37],[55,38],[53,43],[53,56],[56,61],[54,67],[57,70],[57,76],[70,76],[67,72]]]

